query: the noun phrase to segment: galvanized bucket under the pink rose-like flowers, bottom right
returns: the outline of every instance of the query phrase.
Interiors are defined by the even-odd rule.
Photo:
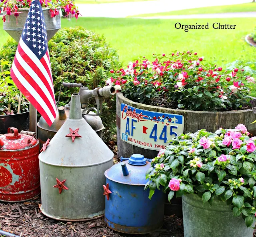
[[[214,199],[203,203],[196,194],[182,196],[184,237],[252,237],[242,217],[234,217],[231,205]],[[254,227],[255,222],[253,223]]]

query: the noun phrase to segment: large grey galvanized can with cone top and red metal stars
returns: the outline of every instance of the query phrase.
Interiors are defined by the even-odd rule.
[[[64,221],[103,215],[104,171],[113,156],[82,118],[80,96],[73,94],[69,118],[39,155],[42,213]]]

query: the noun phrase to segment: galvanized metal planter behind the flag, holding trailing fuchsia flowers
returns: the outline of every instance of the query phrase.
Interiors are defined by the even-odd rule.
[[[58,16],[51,17],[49,8],[42,8],[44,14],[44,20],[46,24],[47,38],[48,41],[56,34],[56,32],[61,28],[60,18],[61,11],[59,10]],[[20,36],[22,34],[25,22],[27,20],[29,8],[20,8],[19,16],[16,17],[14,14],[11,16],[6,16],[6,21],[4,22],[3,29],[12,37],[16,42],[20,41]]]

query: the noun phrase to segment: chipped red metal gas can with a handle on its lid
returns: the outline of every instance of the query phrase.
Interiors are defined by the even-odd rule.
[[[11,130],[13,133],[10,133]],[[26,201],[40,193],[39,141],[14,127],[0,135],[0,201]]]

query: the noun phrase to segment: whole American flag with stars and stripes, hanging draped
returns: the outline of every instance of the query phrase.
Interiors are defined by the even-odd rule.
[[[33,0],[11,68],[20,92],[48,125],[56,118],[52,70],[44,15],[39,0]]]

